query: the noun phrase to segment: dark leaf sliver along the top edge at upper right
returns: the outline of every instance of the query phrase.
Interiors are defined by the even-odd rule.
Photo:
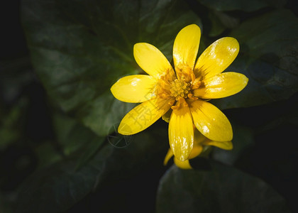
[[[207,6],[211,9],[215,9],[217,11],[256,11],[258,9],[262,9],[266,6],[274,6],[281,7],[284,6],[287,0],[226,0],[226,1],[218,1],[218,0],[197,0],[199,3]]]

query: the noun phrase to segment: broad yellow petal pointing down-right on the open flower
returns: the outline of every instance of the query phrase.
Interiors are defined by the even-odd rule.
[[[194,125],[212,141],[231,141],[233,131],[226,116],[209,102],[201,100],[189,103]]]

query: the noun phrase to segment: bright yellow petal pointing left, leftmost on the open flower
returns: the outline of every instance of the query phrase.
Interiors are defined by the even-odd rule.
[[[111,92],[121,102],[145,102],[153,97],[155,84],[155,78],[150,75],[129,75],[118,80]]]

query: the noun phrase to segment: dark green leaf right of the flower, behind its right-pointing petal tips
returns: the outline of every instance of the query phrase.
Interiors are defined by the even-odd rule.
[[[242,92],[213,100],[221,109],[251,107],[288,99],[298,91],[298,18],[279,10],[245,21],[232,31],[241,52],[228,71],[249,81]]]

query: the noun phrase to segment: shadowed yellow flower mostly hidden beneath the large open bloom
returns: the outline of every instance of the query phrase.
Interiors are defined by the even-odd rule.
[[[189,163],[189,160],[192,158],[196,158],[198,155],[204,153],[209,153],[210,146],[217,146],[219,148],[222,148],[224,150],[231,150],[233,148],[233,143],[231,141],[211,141],[210,139],[206,138],[202,135],[195,127],[194,127],[194,148],[192,148],[192,151],[189,154],[189,157],[187,160],[180,161],[176,157],[174,157],[174,163],[177,165],[177,167],[182,169],[192,169],[192,166]],[[167,151],[167,155],[165,155],[164,165],[167,165],[167,162],[172,158],[173,152],[172,149],[169,149]]]

